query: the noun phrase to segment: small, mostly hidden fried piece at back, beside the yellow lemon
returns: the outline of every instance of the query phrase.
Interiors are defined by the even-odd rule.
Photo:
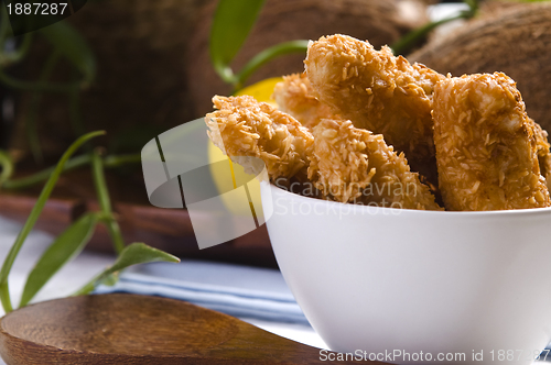
[[[283,76],[283,81],[276,85],[272,98],[281,111],[293,115],[310,130],[323,118],[335,119],[331,108],[312,95],[305,74]]]

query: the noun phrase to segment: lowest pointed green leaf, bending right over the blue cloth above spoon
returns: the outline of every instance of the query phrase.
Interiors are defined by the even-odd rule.
[[[132,243],[120,253],[119,257],[111,267],[105,269],[101,274],[91,279],[83,288],[76,291],[74,296],[89,294],[97,285],[106,280],[112,280],[111,276],[114,274],[129,266],[153,262],[180,263],[180,258],[161,250],[150,247],[144,243]]]

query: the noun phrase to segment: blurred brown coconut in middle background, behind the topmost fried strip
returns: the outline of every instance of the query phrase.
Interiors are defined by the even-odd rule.
[[[187,76],[195,115],[210,111],[214,95],[229,95],[231,87],[214,71],[208,36],[215,4],[203,10],[202,21],[188,44]],[[415,10],[417,9],[417,10]],[[291,40],[317,40],[342,33],[368,40],[380,47],[426,21],[426,4],[404,0],[268,0],[260,18],[233,63],[239,70],[260,51]],[[280,57],[260,68],[248,84],[274,76],[301,73],[304,55]]]

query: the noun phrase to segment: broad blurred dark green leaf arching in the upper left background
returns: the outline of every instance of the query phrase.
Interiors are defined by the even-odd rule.
[[[84,75],[85,85],[96,76],[96,58],[86,40],[67,22],[57,22],[39,32]]]

